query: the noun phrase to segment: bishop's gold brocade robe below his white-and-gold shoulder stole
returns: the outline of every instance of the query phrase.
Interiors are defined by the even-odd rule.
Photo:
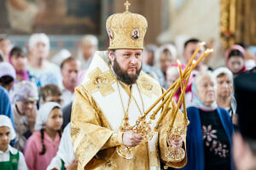
[[[174,102],[170,105],[172,109],[165,116],[160,126],[159,144],[157,144],[157,148],[160,150],[148,153],[148,144],[144,141],[135,148],[134,158],[125,160],[115,151],[115,146],[122,144],[122,133],[113,131],[107,118],[83,85],[76,88],[75,93],[71,117],[71,136],[73,149],[79,160],[79,170],[148,170],[149,155],[151,157],[150,162],[155,164],[156,169],[160,169],[160,159],[166,162],[166,129],[169,126],[168,117],[170,117],[172,109],[176,108]],[[178,112],[174,126],[181,125],[182,122],[183,115]],[[186,139],[185,135],[183,139]],[[185,142],[183,145],[185,145]],[[152,156],[154,157],[152,158]],[[167,164],[171,167],[183,167],[186,164],[186,159],[177,163],[168,162]]]

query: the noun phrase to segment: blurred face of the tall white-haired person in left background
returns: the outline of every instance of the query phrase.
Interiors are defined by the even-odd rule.
[[[46,47],[44,42],[38,42],[31,49],[31,54],[38,59],[46,59],[49,55],[49,49]]]

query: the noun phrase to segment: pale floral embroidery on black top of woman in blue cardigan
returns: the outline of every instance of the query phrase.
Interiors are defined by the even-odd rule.
[[[229,154],[229,149],[227,148],[227,144],[222,144],[217,139],[217,130],[212,129],[212,125],[202,126],[202,135],[205,144],[215,155],[220,157],[227,157]]]

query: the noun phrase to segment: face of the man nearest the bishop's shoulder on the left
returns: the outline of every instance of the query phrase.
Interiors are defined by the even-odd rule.
[[[81,64],[78,60],[71,60],[65,63],[61,69],[63,83],[69,88],[75,88],[77,86],[80,70]]]

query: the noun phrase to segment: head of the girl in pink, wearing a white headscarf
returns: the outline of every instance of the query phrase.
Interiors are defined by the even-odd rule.
[[[61,105],[55,102],[47,102],[38,111],[35,130],[49,128],[58,131],[63,123]]]

